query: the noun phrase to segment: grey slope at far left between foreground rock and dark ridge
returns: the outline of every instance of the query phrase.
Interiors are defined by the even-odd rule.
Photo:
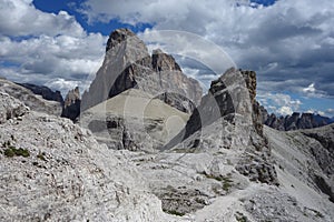
[[[62,104],[60,102],[45,100],[41,95],[8,80],[0,79],[0,91],[20,100],[33,111],[52,115],[60,115],[61,113]]]

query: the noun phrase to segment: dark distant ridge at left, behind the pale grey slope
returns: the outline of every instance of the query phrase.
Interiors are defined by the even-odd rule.
[[[46,100],[60,102],[63,103],[63,99],[61,97],[60,91],[52,91],[51,89],[45,87],[45,85],[36,85],[31,83],[18,83],[17,84],[27,88],[28,90],[31,90],[35,94],[41,95]]]

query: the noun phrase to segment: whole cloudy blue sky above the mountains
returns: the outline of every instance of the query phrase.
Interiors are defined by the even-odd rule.
[[[256,71],[257,100],[269,112],[334,117],[333,0],[1,0],[0,10],[0,77],[12,81],[63,94],[86,89],[112,30],[129,28],[143,38],[175,30]],[[217,78],[178,57],[181,50],[173,53],[206,87]]]

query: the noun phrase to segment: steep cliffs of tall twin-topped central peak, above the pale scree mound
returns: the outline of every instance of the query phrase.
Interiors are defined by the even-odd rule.
[[[155,50],[150,56],[135,33],[119,29],[110,33],[104,64],[89,91],[82,95],[81,110],[131,88],[188,113],[202,98],[199,83],[187,78],[171,56],[161,50]]]

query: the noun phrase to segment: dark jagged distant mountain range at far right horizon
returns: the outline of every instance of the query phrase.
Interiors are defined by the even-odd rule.
[[[281,131],[313,129],[334,123],[332,119],[315,113],[294,112],[292,115],[276,117],[274,113],[268,114],[265,109],[262,113],[264,124]]]

